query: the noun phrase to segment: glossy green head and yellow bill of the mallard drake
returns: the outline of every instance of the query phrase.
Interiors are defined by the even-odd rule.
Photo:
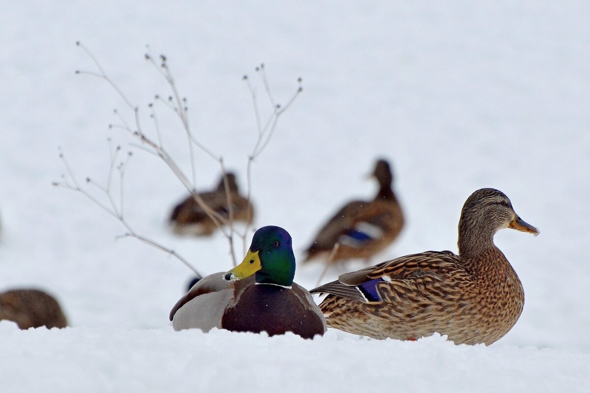
[[[295,256],[289,232],[278,226],[258,229],[240,265],[225,273],[229,281],[256,275],[260,284],[291,286],[295,276]]]

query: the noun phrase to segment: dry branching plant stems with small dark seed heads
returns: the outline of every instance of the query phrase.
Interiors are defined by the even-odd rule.
[[[123,99],[123,101],[126,103],[127,107],[129,107],[129,109],[133,113],[133,123],[130,124],[119,113],[119,111],[115,110],[114,114],[117,116],[117,118],[119,118],[121,124],[117,124],[117,125],[111,124],[109,126],[109,128],[120,128],[124,131],[127,131],[127,133],[129,133],[130,136],[132,136],[137,141],[139,141],[139,144],[132,143],[132,146],[138,147],[141,150],[148,151],[149,153],[152,153],[155,156],[158,156],[166,164],[166,166],[169,167],[169,169],[172,171],[172,173],[181,181],[181,183],[186,188],[186,190],[188,190],[189,193],[192,194],[195,201],[205,211],[205,213],[207,213],[207,215],[211,218],[211,220],[215,223],[215,225],[219,228],[219,230],[227,238],[228,245],[230,248],[230,255],[232,258],[232,262],[233,262],[234,266],[237,265],[237,261],[235,259],[235,252],[234,252],[234,236],[238,236],[242,240],[242,248],[243,248],[242,252],[245,253],[245,247],[247,244],[246,237],[247,237],[248,231],[250,229],[250,224],[246,225],[243,232],[240,232],[235,228],[234,219],[233,219],[233,215],[234,215],[233,206],[232,206],[232,202],[231,202],[231,195],[230,195],[228,181],[227,181],[227,171],[225,170],[223,157],[218,156],[217,154],[213,153],[212,150],[210,150],[208,147],[201,144],[192,134],[191,128],[189,126],[187,100],[185,97],[182,97],[181,94],[179,94],[178,88],[176,87],[176,84],[175,84],[175,80],[172,76],[172,72],[170,71],[170,68],[168,67],[168,62],[167,62],[166,57],[164,55],[160,55],[159,61],[156,61],[153,58],[153,56],[150,55],[149,53],[146,53],[146,55],[145,55],[146,60],[148,60],[150,62],[150,64],[152,64],[153,67],[159,72],[159,74],[162,75],[163,78],[165,78],[165,81],[168,84],[169,90],[171,92],[171,94],[168,95],[167,100],[163,99],[160,95],[155,95],[155,102],[162,103],[163,105],[165,105],[166,108],[168,108],[169,110],[172,110],[181,122],[182,129],[185,132],[186,138],[188,141],[189,155],[190,155],[190,159],[191,159],[191,175],[190,176],[187,176],[182,171],[181,167],[179,167],[178,164],[176,164],[176,162],[170,156],[168,151],[166,151],[166,149],[163,147],[162,136],[160,133],[160,126],[159,126],[158,117],[156,116],[156,111],[155,111],[155,105],[152,103],[150,103],[148,105],[149,111],[150,111],[150,118],[153,121],[153,128],[155,129],[156,138],[157,138],[156,140],[153,140],[152,138],[147,136],[146,133],[144,133],[144,131],[143,131],[142,124],[139,121],[139,107],[137,107],[137,105],[133,105],[131,103],[131,101],[126,97],[126,95],[124,95],[123,91],[106,74],[103,67],[101,67],[100,62],[97,60],[96,57],[94,57],[94,55],[89,51],[89,49],[84,47],[84,45],[80,44],[80,42],[76,42],[76,45],[78,47],[82,48],[84,50],[84,52],[86,52],[86,54],[89,55],[89,57],[94,62],[94,65],[96,65],[96,68],[98,70],[98,72],[76,71],[76,73],[91,75],[93,77],[97,77],[97,78],[100,78],[100,79],[106,81],[109,85],[111,85],[113,87],[113,89],[116,91],[116,93]],[[148,47],[148,50],[149,50],[149,47]],[[255,116],[256,116],[256,120],[257,120],[257,128],[258,128],[258,137],[257,137],[256,143],[254,145],[252,152],[248,156],[248,164],[247,164],[247,200],[248,200],[248,202],[251,199],[251,164],[253,163],[255,158],[260,156],[260,154],[263,152],[263,150],[267,147],[271,137],[274,134],[274,131],[276,130],[278,118],[280,117],[280,115],[283,114],[284,111],[286,111],[287,108],[290,107],[290,105],[293,103],[293,101],[295,100],[297,95],[299,95],[299,93],[301,93],[301,91],[303,90],[301,88],[301,78],[299,78],[298,79],[299,87],[297,88],[296,93],[294,93],[293,96],[290,98],[290,100],[287,101],[286,105],[281,107],[280,104],[278,104],[278,103],[276,103],[276,101],[274,101],[274,98],[271,94],[270,86],[268,84],[268,80],[266,77],[266,72],[264,71],[264,64],[261,64],[260,67],[257,67],[255,70],[261,77],[261,81],[264,85],[268,100],[270,101],[270,104],[271,104],[271,107],[273,108],[273,110],[272,110],[272,113],[270,114],[270,116],[268,117],[268,119],[266,120],[266,122],[263,124],[261,121],[260,110],[258,108],[257,97],[256,97],[254,87],[250,83],[250,79],[245,75],[244,80],[247,82],[248,89],[250,90],[250,93],[252,96],[253,105],[254,105],[254,112],[255,112]],[[195,148],[198,148],[199,150],[204,151],[204,153],[206,153],[209,157],[211,157],[213,160],[217,161],[219,163],[219,166],[221,167],[221,172],[224,177],[226,197],[227,197],[227,201],[228,201],[228,217],[227,218],[224,216],[221,216],[221,214],[218,214],[217,212],[212,210],[211,207],[209,207],[201,199],[199,194],[196,193],[196,189],[195,189],[195,183],[196,183]],[[65,186],[69,189],[80,191],[86,197],[88,197],[90,200],[92,200],[94,203],[98,204],[101,208],[103,208],[104,210],[106,210],[107,212],[112,214],[114,217],[119,219],[120,222],[123,223],[123,225],[128,230],[128,233],[124,236],[136,237],[136,239],[138,239],[144,243],[152,245],[152,246],[154,246],[160,250],[163,250],[165,252],[171,253],[171,255],[176,256],[183,263],[185,263],[185,265],[189,266],[189,268],[194,270],[196,273],[196,270],[194,269],[194,267],[192,267],[185,259],[180,257],[178,254],[173,252],[173,250],[163,247],[159,243],[153,242],[152,240],[146,239],[145,237],[137,235],[130,228],[129,223],[127,223],[126,220],[124,219],[123,211],[122,211],[123,190],[121,190],[121,194],[120,194],[120,207],[116,206],[116,204],[114,203],[114,199],[110,193],[110,181],[112,179],[113,163],[114,163],[113,159],[114,159],[114,156],[117,155],[118,151],[119,151],[119,149],[117,149],[114,152],[114,154],[112,154],[112,157],[111,157],[112,158],[111,159],[111,170],[109,172],[109,181],[107,181],[107,187],[106,188],[99,187],[99,188],[101,188],[101,190],[103,190],[107,194],[107,197],[109,197],[110,206],[106,206],[106,205],[100,203],[97,199],[95,199],[93,196],[91,196],[91,194],[87,190],[84,190],[83,188],[81,188],[79,186],[79,184],[77,183],[77,181],[74,178],[73,171],[71,171],[71,169],[68,166],[67,161],[65,161],[65,157],[63,156],[63,153],[61,151],[60,151],[60,157],[64,160],[65,167],[68,171],[68,174],[71,177],[71,180],[74,181],[74,184],[73,185],[68,184],[67,181],[64,180],[62,183],[55,183],[55,185]],[[124,168],[125,167],[126,167],[126,164],[121,164],[120,169],[119,169],[120,180],[121,180],[121,189],[123,189],[123,175],[124,175]],[[117,168],[119,168],[119,167],[117,167]],[[87,180],[89,180],[89,183],[93,183],[90,181],[90,179],[87,179]],[[95,184],[95,185],[97,185],[97,184]],[[198,273],[197,273],[197,275],[198,275]]]

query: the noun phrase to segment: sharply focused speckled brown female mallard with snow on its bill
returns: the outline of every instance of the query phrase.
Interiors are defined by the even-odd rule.
[[[455,344],[490,345],[516,323],[525,303],[516,272],[494,245],[510,228],[537,235],[514,213],[506,195],[481,189],[459,219],[459,255],[450,251],[402,256],[313,289],[327,325],[376,339],[417,339],[434,332]]]

